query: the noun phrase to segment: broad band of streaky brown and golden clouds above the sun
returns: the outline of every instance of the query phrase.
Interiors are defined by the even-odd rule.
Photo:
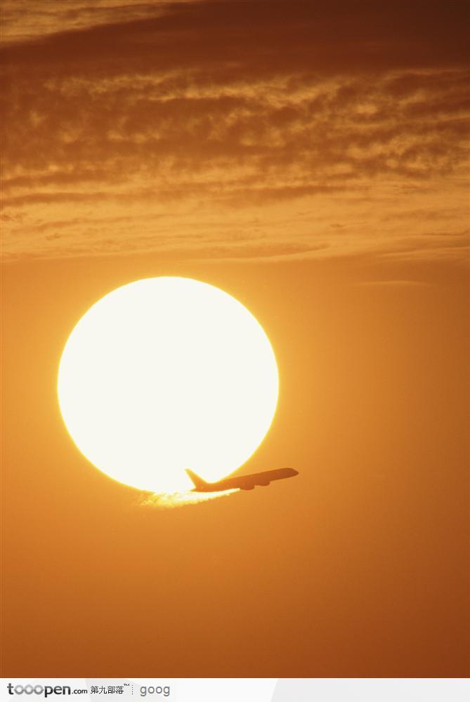
[[[7,5],[6,256],[462,256],[458,3]]]

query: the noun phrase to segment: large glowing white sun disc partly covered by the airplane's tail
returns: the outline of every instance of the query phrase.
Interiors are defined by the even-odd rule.
[[[58,399],[86,458],[155,493],[217,480],[266,435],[278,367],[259,322],[223,290],[190,278],[138,280],[108,293],[65,344]]]

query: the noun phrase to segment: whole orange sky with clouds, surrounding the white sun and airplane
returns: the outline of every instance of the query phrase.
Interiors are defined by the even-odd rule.
[[[3,0],[6,676],[469,674],[467,6]],[[242,470],[142,507],[56,400],[79,317],[186,275],[280,370]]]

